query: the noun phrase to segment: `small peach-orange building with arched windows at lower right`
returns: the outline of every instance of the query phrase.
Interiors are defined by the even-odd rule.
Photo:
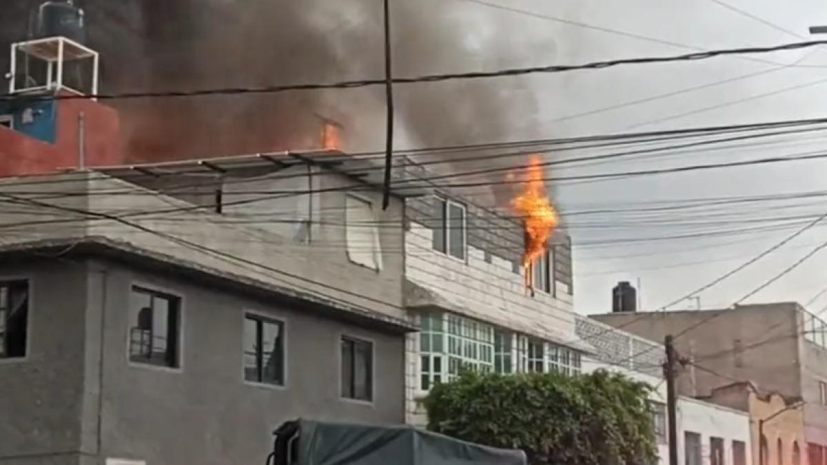
[[[715,388],[707,400],[749,412],[756,464],[823,463],[819,448],[805,449],[804,412],[800,399],[788,399],[777,392],[762,393],[753,383],[739,381]]]

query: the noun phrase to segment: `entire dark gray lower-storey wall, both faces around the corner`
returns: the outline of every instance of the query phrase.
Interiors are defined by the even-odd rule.
[[[34,290],[31,355],[0,362],[0,464],[263,463],[272,430],[289,419],[404,421],[401,334],[109,261],[45,261],[0,276],[31,276]],[[179,370],[127,362],[133,284],[182,298]],[[243,381],[248,310],[285,321],[284,387]],[[340,397],[342,334],[375,344],[372,402]]]

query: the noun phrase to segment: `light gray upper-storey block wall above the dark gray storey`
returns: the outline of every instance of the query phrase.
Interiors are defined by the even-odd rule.
[[[326,189],[353,185],[352,180],[337,175],[327,176],[321,182]],[[31,204],[21,207],[2,197],[3,192],[21,190],[26,191],[23,197],[51,193],[53,197],[47,200],[49,204],[80,209],[81,212],[68,213]],[[359,192],[375,205],[380,203],[379,193],[366,189]],[[70,193],[79,195],[66,195]],[[404,205],[401,200],[392,199],[390,208],[385,211],[375,210],[378,210],[380,224],[400,225],[399,228],[380,228],[384,266],[375,271],[348,260],[343,227],[346,194],[342,190],[328,190],[318,195],[325,223],[318,225],[320,239],[308,244],[280,237],[265,228],[239,223],[233,218],[228,221],[226,216],[218,213],[194,210],[192,204],[182,200],[97,173],[7,179],[0,184],[0,228],[5,232],[0,237],[0,244],[51,237],[109,237],[128,242],[132,247],[187,261],[193,266],[281,286],[342,307],[373,312],[390,319],[404,319],[401,308]],[[267,197],[261,195],[261,199]],[[171,213],[158,213],[170,210]],[[102,218],[90,220],[84,211],[127,214],[132,224]],[[26,224],[21,226],[20,223]],[[182,244],[182,240],[194,245]],[[198,247],[218,250],[225,255]]]

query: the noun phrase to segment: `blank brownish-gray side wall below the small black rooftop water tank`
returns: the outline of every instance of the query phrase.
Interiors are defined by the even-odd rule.
[[[710,372],[687,367],[681,372],[682,395],[710,395],[710,391],[736,380],[751,380],[761,389],[800,395],[797,305],[793,303],[744,305],[738,309],[658,312],[652,314],[592,315],[606,324],[643,338],[662,341],[668,334],[700,323],[676,339],[684,357],[694,357]],[[754,346],[754,347],[752,347]],[[742,350],[737,350],[737,348]],[[727,377],[724,377],[727,376]]]

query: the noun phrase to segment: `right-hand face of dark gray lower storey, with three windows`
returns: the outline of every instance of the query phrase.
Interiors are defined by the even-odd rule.
[[[103,323],[103,346],[98,345],[99,333],[90,332],[84,448],[96,448],[99,441],[101,457],[140,458],[164,465],[263,463],[270,452],[272,430],[288,419],[404,422],[403,336],[320,319],[275,300],[227,295],[170,276],[111,264],[98,268],[105,274],[94,271],[98,274],[90,279],[88,317],[90,328]],[[126,310],[133,283],[182,296],[181,370],[127,363]],[[286,321],[284,388],[243,381],[246,309]],[[375,395],[370,404],[340,399],[342,333],[375,342]],[[103,352],[98,350],[101,347]],[[95,366],[103,367],[102,377]]]

